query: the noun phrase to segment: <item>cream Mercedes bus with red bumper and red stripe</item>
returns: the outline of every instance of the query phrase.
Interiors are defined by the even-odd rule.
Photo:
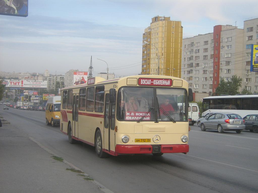
[[[70,143],[95,146],[99,157],[189,151],[188,112],[177,105],[188,104],[188,83],[183,79],[93,77],[61,91],[62,133]]]

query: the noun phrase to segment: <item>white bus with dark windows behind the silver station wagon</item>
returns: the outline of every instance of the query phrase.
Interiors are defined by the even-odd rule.
[[[209,96],[203,98],[203,113],[236,113],[242,118],[248,114],[258,114],[258,95]]]

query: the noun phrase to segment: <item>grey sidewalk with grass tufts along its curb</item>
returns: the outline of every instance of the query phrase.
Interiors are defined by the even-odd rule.
[[[52,156],[50,150],[33,138],[23,136],[10,124],[3,124],[0,127],[1,193],[109,192],[87,174],[71,171],[78,168]]]

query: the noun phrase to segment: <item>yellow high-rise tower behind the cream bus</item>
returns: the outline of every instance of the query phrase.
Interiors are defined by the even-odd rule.
[[[142,36],[142,74],[181,78],[181,21],[170,20],[170,17],[165,16],[156,16],[151,20]]]

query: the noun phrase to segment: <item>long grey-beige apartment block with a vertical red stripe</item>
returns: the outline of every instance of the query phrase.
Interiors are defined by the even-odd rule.
[[[213,33],[183,39],[182,78],[196,93],[216,91],[220,80],[243,79],[242,90],[258,92],[258,73],[250,72],[251,45],[258,43],[258,19],[244,21],[244,29],[216,25]]]

